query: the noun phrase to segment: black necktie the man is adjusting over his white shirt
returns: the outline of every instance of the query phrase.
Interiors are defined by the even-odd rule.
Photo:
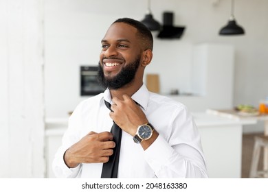
[[[111,104],[104,101],[105,105],[109,110],[111,110]],[[109,157],[109,161],[104,163],[102,166],[102,176],[101,178],[118,178],[118,163],[121,147],[121,137],[122,130],[113,121],[113,126],[111,128],[111,134],[113,134],[113,141],[115,142],[115,147],[113,148],[113,154]]]

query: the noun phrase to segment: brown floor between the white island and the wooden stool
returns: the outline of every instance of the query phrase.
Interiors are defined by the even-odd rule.
[[[242,178],[249,178],[249,169],[252,163],[252,151],[254,146],[254,136],[262,134],[243,134],[243,150],[242,150]],[[258,169],[263,167],[263,151],[260,153],[260,163]]]

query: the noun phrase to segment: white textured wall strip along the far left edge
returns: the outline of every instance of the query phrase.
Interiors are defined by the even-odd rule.
[[[0,178],[42,178],[43,1],[0,1],[0,27]]]

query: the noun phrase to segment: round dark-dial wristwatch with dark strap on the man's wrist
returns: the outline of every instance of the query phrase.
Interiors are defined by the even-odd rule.
[[[150,123],[139,125],[139,127],[137,127],[135,136],[133,136],[133,141],[139,144],[144,140],[150,139],[150,137],[153,135],[153,130],[155,129]]]

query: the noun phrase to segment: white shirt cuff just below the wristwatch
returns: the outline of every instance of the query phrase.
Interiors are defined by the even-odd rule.
[[[144,157],[150,167],[157,172],[163,165],[169,162],[173,153],[174,149],[159,134],[150,147],[144,151]]]

